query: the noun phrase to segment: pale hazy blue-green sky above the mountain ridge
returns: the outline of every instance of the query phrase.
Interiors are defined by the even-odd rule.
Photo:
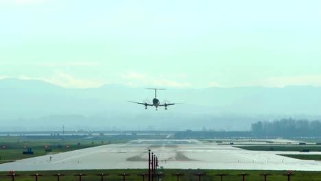
[[[0,78],[321,86],[321,1],[0,0]]]

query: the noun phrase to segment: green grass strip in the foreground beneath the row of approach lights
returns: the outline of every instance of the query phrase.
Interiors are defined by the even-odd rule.
[[[76,174],[82,173],[86,174],[83,176],[82,180],[100,180],[100,176],[96,176],[99,173],[107,173],[110,176],[106,176],[105,180],[122,180],[122,176],[119,174],[127,173],[130,176],[126,177],[126,180],[143,180],[142,176],[138,176],[142,173],[147,173],[147,169],[117,169],[117,170],[86,170],[86,171],[19,171],[16,174],[19,176],[16,177],[16,180],[19,181],[31,181],[35,180],[32,177],[32,174],[39,173],[43,176],[39,177],[38,180],[57,180],[56,176],[53,176],[56,173],[64,174],[60,180],[68,181],[68,180],[79,180],[78,176],[74,176]],[[165,169],[163,170],[163,180],[167,181],[176,181],[177,177],[173,176],[173,174],[182,173],[183,176],[180,177],[180,180],[198,180],[198,176],[194,176],[194,174],[205,173],[206,176],[202,176],[202,180],[220,180],[219,176],[216,176],[219,173],[225,173],[229,176],[224,176],[225,181],[232,180],[242,180],[242,176],[239,176],[241,173],[250,174],[250,176],[246,176],[247,181],[257,181],[263,180],[263,176],[260,176],[262,173],[270,173],[272,176],[268,176],[269,181],[282,181],[287,180],[287,176],[283,176],[287,171],[235,171],[235,170],[193,170],[193,169]],[[292,176],[292,181],[314,181],[320,180],[321,172],[318,171],[294,171],[295,176]],[[8,172],[0,172],[0,180],[9,181],[11,178],[8,175]],[[147,180],[147,177],[145,178]],[[155,179],[156,180],[156,179]]]

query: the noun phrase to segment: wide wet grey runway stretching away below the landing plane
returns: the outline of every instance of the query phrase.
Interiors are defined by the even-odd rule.
[[[42,171],[67,169],[147,169],[148,149],[158,156],[164,169],[251,169],[320,171],[321,162],[298,160],[196,140],[138,140],[103,145],[61,154],[39,156],[0,165],[0,171]],[[305,154],[321,154],[320,152]],[[51,157],[51,160],[50,160]]]

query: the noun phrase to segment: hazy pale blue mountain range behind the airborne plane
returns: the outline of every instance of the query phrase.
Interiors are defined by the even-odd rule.
[[[3,129],[249,130],[254,121],[319,119],[321,87],[168,88],[160,101],[187,102],[145,110],[131,101],[152,101],[154,92],[108,84],[62,88],[35,80],[0,80]]]

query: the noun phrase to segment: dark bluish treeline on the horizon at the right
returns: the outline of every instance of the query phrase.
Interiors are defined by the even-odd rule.
[[[321,136],[321,122],[281,119],[278,121],[258,121],[252,123],[255,136]]]

